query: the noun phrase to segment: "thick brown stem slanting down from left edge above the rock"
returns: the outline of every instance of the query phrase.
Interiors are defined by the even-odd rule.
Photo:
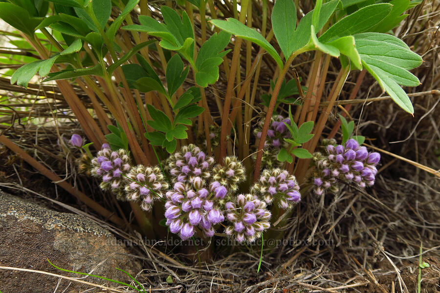
[[[20,146],[17,146],[15,143],[13,143],[11,140],[9,140],[6,136],[1,135],[0,136],[0,142],[10,148],[13,152],[20,155],[24,161],[26,161],[29,165],[36,168],[40,173],[42,173],[44,176],[52,180],[53,182],[57,182],[56,184],[60,187],[64,188],[67,192],[74,195],[78,200],[86,204],[90,209],[94,209],[96,212],[98,212],[100,215],[108,218],[111,222],[115,223],[116,225],[120,227],[126,227],[127,223],[124,222],[121,218],[116,216],[113,212],[110,210],[105,209],[101,205],[99,205],[97,202],[89,198],[86,194],[83,192],[75,189],[73,186],[68,184],[66,181],[63,181],[58,175],[44,167],[42,164],[37,162],[34,158],[32,158],[29,154],[27,154]]]

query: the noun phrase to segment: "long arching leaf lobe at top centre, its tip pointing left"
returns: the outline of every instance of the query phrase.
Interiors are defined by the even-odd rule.
[[[218,28],[230,34],[233,34],[244,40],[254,42],[259,46],[263,47],[264,50],[266,50],[267,53],[269,53],[270,56],[272,56],[272,58],[275,60],[278,66],[280,66],[281,68],[283,67],[283,61],[281,60],[280,56],[278,56],[277,51],[256,30],[247,27],[246,25],[242,24],[240,21],[233,18],[228,18],[226,21],[211,20],[211,22]]]

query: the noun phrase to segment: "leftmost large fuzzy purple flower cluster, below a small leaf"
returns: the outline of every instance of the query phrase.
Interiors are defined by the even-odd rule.
[[[111,151],[108,144],[102,145],[91,160],[91,174],[102,179],[100,187],[110,189],[119,199],[125,199],[124,175],[130,170],[130,157],[125,149]]]

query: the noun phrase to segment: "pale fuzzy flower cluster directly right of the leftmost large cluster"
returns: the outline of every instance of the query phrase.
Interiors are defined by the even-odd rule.
[[[141,208],[148,211],[168,187],[159,167],[138,165],[127,174],[125,192],[127,200],[140,201]]]

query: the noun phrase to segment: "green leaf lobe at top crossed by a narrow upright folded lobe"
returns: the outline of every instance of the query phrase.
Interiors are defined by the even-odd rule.
[[[330,16],[333,14],[334,10],[336,9],[337,5],[339,3],[339,0],[333,0],[330,2],[327,2],[322,5],[319,13],[319,21],[318,26],[313,26],[316,31],[319,31],[324,24],[329,20]],[[298,27],[295,30],[295,34],[293,34],[290,39],[292,39],[292,48],[291,50],[297,51],[300,48],[307,45],[307,43],[310,40],[310,28],[312,25],[312,17],[313,17],[313,10],[310,11],[308,14],[306,14],[301,21],[298,24]]]

